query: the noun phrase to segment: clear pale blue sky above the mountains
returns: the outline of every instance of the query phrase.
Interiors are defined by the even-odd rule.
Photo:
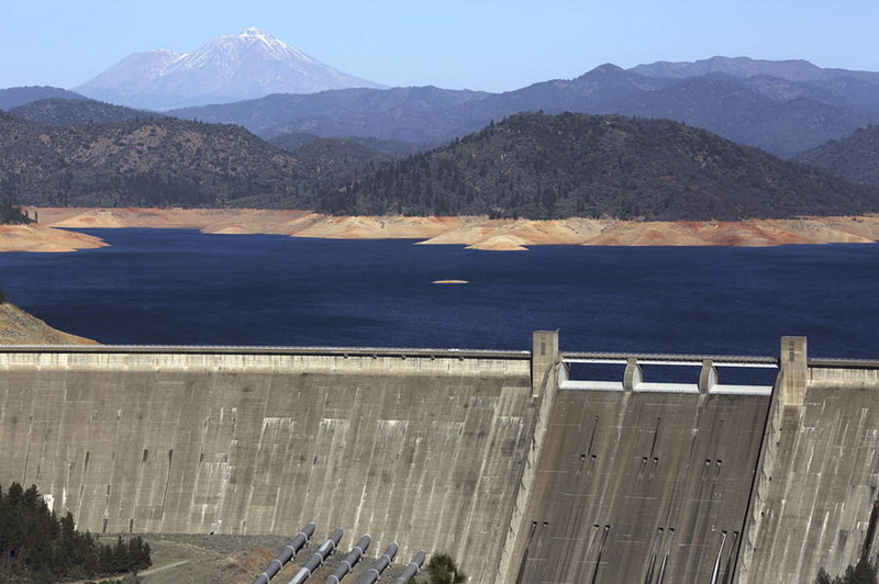
[[[247,26],[390,86],[503,91],[714,55],[879,70],[876,0],[2,0],[0,88],[73,87]]]

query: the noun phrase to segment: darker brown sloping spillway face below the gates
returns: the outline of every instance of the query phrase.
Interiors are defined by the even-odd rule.
[[[768,396],[560,391],[515,582],[728,582]]]

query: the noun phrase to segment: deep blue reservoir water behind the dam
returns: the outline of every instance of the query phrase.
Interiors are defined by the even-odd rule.
[[[113,344],[526,349],[879,358],[879,246],[535,247],[93,229],[111,247],[0,254],[0,290]],[[468,280],[438,285],[438,279]]]

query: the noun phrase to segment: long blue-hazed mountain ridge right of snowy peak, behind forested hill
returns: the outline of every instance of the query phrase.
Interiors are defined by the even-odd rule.
[[[717,60],[727,61],[742,59]],[[616,113],[676,120],[783,157],[879,123],[879,85],[866,80],[869,76],[849,71],[853,75],[847,77],[791,81],[756,75],[776,69],[781,74],[789,66],[772,67],[772,61],[753,59],[744,59],[742,67],[745,65],[754,66],[754,76],[744,77],[744,69],[731,66],[726,70],[738,71],[738,76],[717,71],[675,76],[671,71],[671,77],[656,77],[636,72],[643,69],[624,70],[607,64],[575,79],[544,81],[504,93],[353,89],[268,96],[169,113],[242,124],[264,137],[309,133],[415,145],[444,144],[520,112]],[[810,64],[802,67],[817,69]],[[809,77],[804,72],[786,75]]]

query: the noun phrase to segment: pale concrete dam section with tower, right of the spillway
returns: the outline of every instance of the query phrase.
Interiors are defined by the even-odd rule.
[[[811,582],[879,559],[879,363],[808,359],[795,337],[781,353],[743,583]]]

